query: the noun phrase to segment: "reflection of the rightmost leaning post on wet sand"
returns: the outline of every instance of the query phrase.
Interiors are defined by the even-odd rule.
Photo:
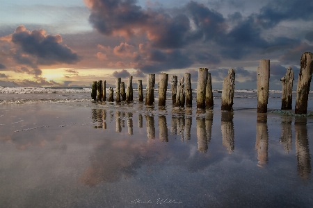
[[[298,175],[302,179],[308,179],[312,170],[306,125],[306,118],[296,117],[294,121],[294,127],[296,130],[296,157],[298,161]]]

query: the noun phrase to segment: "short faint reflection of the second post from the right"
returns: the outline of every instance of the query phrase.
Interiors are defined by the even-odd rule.
[[[282,144],[287,153],[291,151],[292,146],[291,123],[291,116],[282,116],[282,134],[280,135],[280,144]]]

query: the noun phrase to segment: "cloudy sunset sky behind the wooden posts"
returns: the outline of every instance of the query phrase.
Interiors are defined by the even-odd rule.
[[[0,86],[90,87],[147,74],[178,78],[206,67],[214,89],[228,69],[235,89],[256,89],[271,60],[270,89],[313,52],[313,1],[1,0]]]

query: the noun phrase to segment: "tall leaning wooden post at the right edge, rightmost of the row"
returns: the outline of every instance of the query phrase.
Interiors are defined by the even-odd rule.
[[[305,52],[300,59],[300,72],[298,76],[296,114],[307,113],[307,99],[313,72],[313,53]]]

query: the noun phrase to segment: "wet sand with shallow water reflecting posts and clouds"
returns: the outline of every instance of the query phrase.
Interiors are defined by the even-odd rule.
[[[312,207],[313,119],[215,102],[0,105],[0,207]]]

